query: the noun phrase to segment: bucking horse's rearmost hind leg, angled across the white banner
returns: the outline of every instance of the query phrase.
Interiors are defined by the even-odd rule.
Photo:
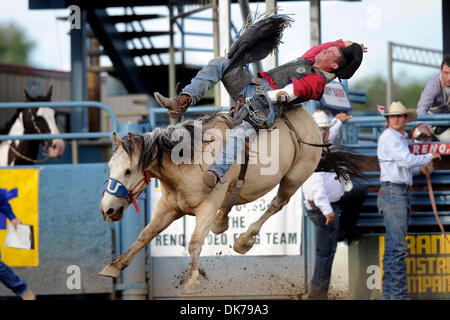
[[[255,244],[254,237],[261,230],[262,225],[273,216],[275,213],[283,209],[283,207],[289,202],[291,196],[300,187],[298,181],[289,181],[287,177],[283,178],[280,182],[278,193],[270,203],[269,208],[264,214],[255,222],[253,222],[248,230],[242,233],[234,244],[234,251],[245,254]]]

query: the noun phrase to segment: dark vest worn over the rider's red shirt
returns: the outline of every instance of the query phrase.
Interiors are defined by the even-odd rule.
[[[298,58],[267,71],[267,74],[272,78],[278,89],[287,86],[292,78],[300,80],[310,73],[320,74],[326,83],[325,75],[319,69],[314,68],[313,64],[312,61]]]

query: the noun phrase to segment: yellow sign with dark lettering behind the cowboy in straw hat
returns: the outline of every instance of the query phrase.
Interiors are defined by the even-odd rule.
[[[450,236],[447,236],[450,239]],[[383,274],[385,237],[379,238]],[[419,294],[450,292],[450,244],[440,234],[407,235],[409,255],[405,258],[408,292]]]

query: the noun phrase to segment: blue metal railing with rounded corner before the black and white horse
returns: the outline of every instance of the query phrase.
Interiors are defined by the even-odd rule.
[[[59,102],[6,102],[0,103],[0,109],[18,108],[99,108],[106,111],[112,122],[113,131],[119,131],[119,122],[114,111],[107,105],[97,101],[59,101]],[[71,139],[72,163],[78,163],[78,143],[80,139],[108,138],[112,139],[112,131],[108,132],[76,132],[59,134],[26,134],[22,136],[0,135],[0,141],[5,140],[46,140]]]

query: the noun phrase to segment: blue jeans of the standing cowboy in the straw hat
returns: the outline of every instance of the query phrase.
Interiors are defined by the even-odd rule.
[[[383,257],[383,299],[409,300],[405,258],[408,256],[409,187],[382,182],[378,211],[384,217],[386,238]]]

